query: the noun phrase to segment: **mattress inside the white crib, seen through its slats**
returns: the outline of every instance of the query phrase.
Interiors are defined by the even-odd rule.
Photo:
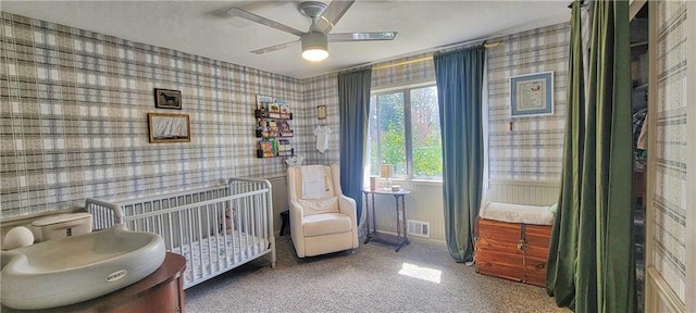
[[[269,242],[264,238],[234,231],[185,243],[171,251],[186,258],[184,280],[188,284],[235,267],[235,264],[249,261],[262,253],[268,245]]]

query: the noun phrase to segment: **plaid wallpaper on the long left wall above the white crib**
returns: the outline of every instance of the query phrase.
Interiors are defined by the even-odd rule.
[[[7,12],[0,24],[0,217],[285,175],[283,158],[254,158],[256,95],[298,108],[302,82]],[[154,88],[181,90],[183,110],[156,109]],[[148,112],[189,114],[191,142],[149,143]]]

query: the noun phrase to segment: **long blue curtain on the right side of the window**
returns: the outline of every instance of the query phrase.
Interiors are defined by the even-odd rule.
[[[433,55],[443,139],[445,237],[457,262],[473,261],[483,187],[483,46]]]

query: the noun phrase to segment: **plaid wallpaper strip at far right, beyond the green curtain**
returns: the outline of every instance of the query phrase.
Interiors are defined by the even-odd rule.
[[[686,301],[686,2],[658,2],[656,154],[651,255],[682,301]],[[693,103],[692,103],[693,105]],[[692,205],[693,206],[693,205]]]

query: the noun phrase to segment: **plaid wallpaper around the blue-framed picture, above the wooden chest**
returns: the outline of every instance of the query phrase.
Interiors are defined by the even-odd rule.
[[[560,180],[569,40],[567,23],[490,40],[505,43],[486,51],[490,179]],[[510,77],[547,71],[554,71],[554,115],[511,118]]]

